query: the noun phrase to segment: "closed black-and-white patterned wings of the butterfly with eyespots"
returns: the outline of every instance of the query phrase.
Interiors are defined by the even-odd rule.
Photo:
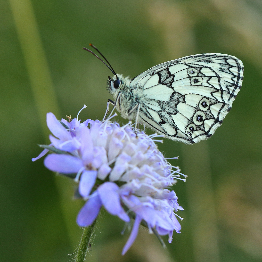
[[[196,54],[156,65],[131,80],[142,91],[139,122],[187,144],[214,134],[241,88],[234,56]]]

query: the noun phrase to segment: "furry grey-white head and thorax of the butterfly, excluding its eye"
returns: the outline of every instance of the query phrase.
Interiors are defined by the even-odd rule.
[[[117,74],[120,80],[120,85],[118,88],[114,88],[114,81],[117,79],[114,75],[111,80],[107,80],[107,89],[113,96],[114,101],[116,101],[117,96],[120,92],[118,102],[116,103],[117,110],[121,113],[123,118],[134,119],[136,110],[132,112],[132,108],[141,103],[141,97],[143,97],[143,90],[136,88],[135,86],[130,86],[130,77],[123,77]],[[129,113],[132,112],[132,113]]]

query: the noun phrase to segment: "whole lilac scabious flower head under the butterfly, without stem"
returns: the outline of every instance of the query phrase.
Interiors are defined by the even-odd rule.
[[[52,151],[44,165],[54,172],[75,174],[78,192],[86,200],[77,216],[79,226],[91,225],[102,205],[126,223],[134,218],[122,254],[133,244],[141,222],[149,233],[168,235],[169,243],[174,230],[180,233],[175,212],[183,208],[176,193],[167,188],[176,179],[185,179],[157,149],[156,134],[135,133],[131,123],[121,127],[109,120],[58,121],[53,113],[47,113],[47,126],[54,135],[49,137],[51,144],[32,161]]]

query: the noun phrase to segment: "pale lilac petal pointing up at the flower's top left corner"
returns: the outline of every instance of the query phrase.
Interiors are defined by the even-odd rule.
[[[53,113],[50,112],[46,114],[46,123],[49,130],[55,137],[63,141],[72,139],[70,133],[63,127],[61,123],[58,122],[56,116]]]

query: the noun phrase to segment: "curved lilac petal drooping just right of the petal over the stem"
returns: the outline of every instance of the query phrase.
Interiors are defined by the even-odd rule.
[[[118,190],[118,185],[113,182],[105,182],[97,189],[105,209],[110,214],[117,215],[125,222],[129,222],[129,216],[121,206]]]

